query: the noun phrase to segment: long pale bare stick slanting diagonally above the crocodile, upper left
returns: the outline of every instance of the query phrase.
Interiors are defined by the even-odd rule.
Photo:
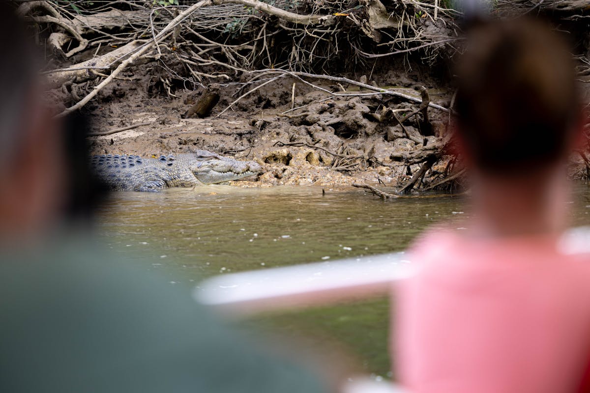
[[[145,44],[143,46],[143,48],[140,48],[137,52],[135,52],[129,58],[127,58],[125,61],[123,61],[121,64],[119,64],[119,67],[117,67],[113,72],[111,72],[111,74],[109,75],[108,78],[106,78],[105,80],[100,82],[100,84],[96,85],[96,87],[94,87],[93,90],[88,95],[86,95],[86,97],[84,97],[84,98],[82,98],[82,100],[78,101],[77,104],[75,104],[69,108],[66,108],[63,112],[56,115],[55,117],[58,117],[58,118],[64,117],[68,113],[76,111],[76,110],[80,109],[81,107],[83,107],[84,105],[86,105],[88,103],[88,101],[90,101],[92,98],[94,98],[94,96],[96,94],[99,93],[100,90],[102,90],[117,75],[119,75],[119,73],[121,71],[123,71],[123,69],[125,67],[127,67],[127,65],[131,64],[138,57],[140,57],[145,52],[147,52],[148,49],[152,48],[154,45],[154,42],[161,42],[164,38],[168,37],[168,35],[172,33],[172,29],[175,28],[176,25],[178,25],[180,22],[182,22],[183,19],[185,19],[190,14],[192,14],[192,12],[196,11],[196,9],[201,8],[202,6],[208,5],[208,4],[211,4],[211,0],[201,0],[198,3],[195,3],[195,4],[191,5],[189,8],[185,9],[185,11],[182,11],[180,14],[178,14],[178,16],[176,16],[176,18],[172,19],[172,21],[168,25],[166,25],[166,27],[163,28],[162,31],[160,31],[158,33],[158,35],[156,35],[155,40],[153,42],[150,41],[147,44]]]

